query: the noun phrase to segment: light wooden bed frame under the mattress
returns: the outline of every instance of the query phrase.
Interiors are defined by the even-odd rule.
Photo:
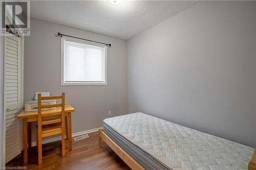
[[[136,160],[123,151],[108,135],[99,129],[99,147],[101,147],[101,140],[106,144],[129,166],[134,170],[145,170]],[[251,161],[248,164],[248,170],[256,170],[256,149],[252,155]]]

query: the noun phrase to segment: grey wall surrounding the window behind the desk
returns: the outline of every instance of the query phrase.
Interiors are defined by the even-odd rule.
[[[60,32],[75,37],[111,43],[108,48],[108,85],[60,86]],[[126,41],[55,23],[31,19],[31,35],[25,37],[24,100],[35,92],[66,92],[72,114],[73,133],[102,127],[102,120],[126,113]],[[34,128],[33,128],[34,129]]]

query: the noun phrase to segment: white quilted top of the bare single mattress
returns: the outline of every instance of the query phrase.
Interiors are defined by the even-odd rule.
[[[144,113],[103,122],[140,149],[174,170],[247,169],[254,149]]]

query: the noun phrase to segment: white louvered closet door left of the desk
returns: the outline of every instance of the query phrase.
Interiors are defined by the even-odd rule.
[[[5,37],[6,162],[20,153],[20,38]]]

